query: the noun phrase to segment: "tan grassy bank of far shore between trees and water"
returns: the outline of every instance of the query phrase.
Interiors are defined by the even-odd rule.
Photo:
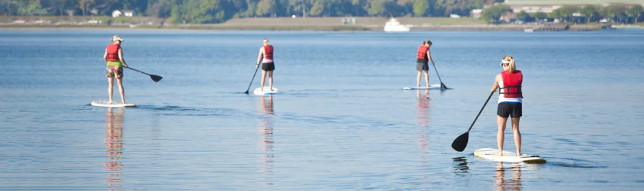
[[[384,31],[386,17],[357,17],[353,25],[343,25],[345,17],[307,18],[233,18],[221,24],[168,24],[160,18],[146,17],[0,17],[5,29],[156,29],[156,30],[251,30],[251,31]],[[95,24],[88,24],[94,20]],[[100,23],[97,24],[100,20]],[[606,25],[567,25],[564,23],[486,24],[477,18],[400,17],[410,31],[599,31]]]

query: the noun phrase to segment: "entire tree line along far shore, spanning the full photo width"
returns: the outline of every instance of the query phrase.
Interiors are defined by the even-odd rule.
[[[0,0],[0,15],[5,16],[109,16],[114,10],[133,10],[139,16],[172,18],[173,23],[221,23],[230,18],[281,16],[469,16],[502,0]],[[507,12],[507,5],[492,5],[482,19],[495,23]],[[601,19],[615,23],[637,23],[642,19],[641,5],[567,5],[550,14],[517,13],[525,23],[558,18],[571,23],[590,23]]]

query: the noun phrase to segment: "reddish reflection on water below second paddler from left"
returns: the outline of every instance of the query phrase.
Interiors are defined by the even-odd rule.
[[[268,98],[267,98],[268,97]],[[264,185],[273,185],[268,178],[273,175],[273,95],[262,96],[262,119],[258,125],[260,134],[260,154],[261,165],[258,169],[262,177],[267,177],[263,182]]]

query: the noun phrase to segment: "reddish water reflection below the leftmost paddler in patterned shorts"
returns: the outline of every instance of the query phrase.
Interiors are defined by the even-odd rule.
[[[108,175],[106,183],[108,187],[121,186],[121,167],[123,164],[123,112],[124,108],[116,108],[116,112],[108,108],[106,113],[106,162],[105,170]]]

